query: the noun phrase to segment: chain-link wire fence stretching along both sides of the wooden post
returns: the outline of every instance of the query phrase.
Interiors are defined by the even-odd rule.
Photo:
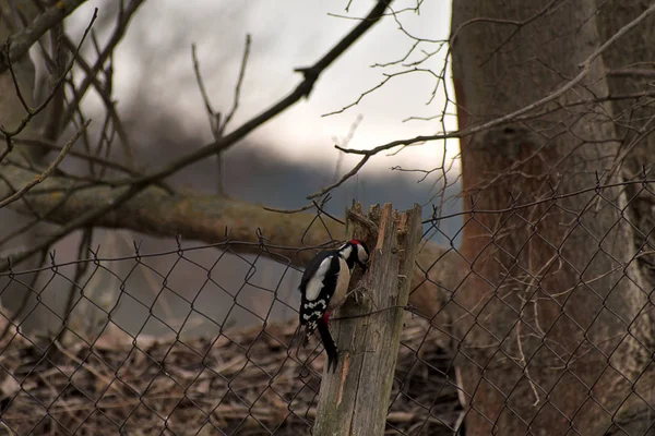
[[[639,231],[611,192],[596,186],[500,211],[474,207],[455,217],[454,234],[442,231],[441,218],[426,220],[425,237],[440,233],[445,249],[429,263],[420,257],[413,292],[429,287],[440,296],[430,316],[406,308],[389,434],[454,434],[467,419],[502,429],[509,417],[532,434],[545,416],[584,434],[576,420],[588,410],[620,427],[624,404],[608,408],[599,389],[611,373],[626,401],[642,396],[650,358],[632,374],[615,358],[626,347],[648,353],[638,324],[651,290],[631,268],[653,249],[642,234],[640,246],[610,250],[626,229]],[[651,194],[646,184],[639,192]],[[608,216],[616,219],[602,234],[588,226]],[[466,226],[486,255],[461,250]],[[594,253],[574,256],[581,243]],[[138,245],[122,257],[96,250],[59,262],[50,254],[44,267],[1,274],[3,300],[24,295],[1,313],[3,432],[309,434],[323,354],[318,340],[297,347],[301,268],[291,257],[318,247],[288,247],[286,256],[271,249],[263,235],[254,244],[178,241],[156,254]],[[446,261],[463,267],[444,271]],[[627,300],[638,308],[627,310]],[[611,331],[620,335],[603,336]],[[538,370],[544,362],[548,371]],[[466,377],[475,384],[462,384]],[[489,392],[501,399],[497,409],[479,408],[476,396]],[[567,402],[577,395],[583,401]]]

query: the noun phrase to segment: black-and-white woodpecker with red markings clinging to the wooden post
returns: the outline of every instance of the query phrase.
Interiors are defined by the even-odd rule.
[[[350,240],[337,250],[320,252],[309,263],[300,280],[300,325],[305,326],[303,346],[319,329],[327,354],[327,371],[336,370],[338,354],[330,335],[330,313],[346,301],[350,274],[355,265],[366,271],[369,250],[359,240]]]

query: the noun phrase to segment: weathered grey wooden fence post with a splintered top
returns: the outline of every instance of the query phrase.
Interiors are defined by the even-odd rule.
[[[317,421],[318,436],[382,435],[398,354],[404,306],[421,235],[420,206],[398,214],[390,203],[361,205],[347,211],[347,234],[367,242],[369,270],[333,318],[331,329],[340,349],[334,374],[323,374]],[[376,227],[379,228],[376,229]],[[340,319],[341,318],[341,319]]]

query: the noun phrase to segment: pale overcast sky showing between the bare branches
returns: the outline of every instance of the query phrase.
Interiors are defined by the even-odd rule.
[[[204,140],[210,141],[191,66],[192,43],[198,45],[202,73],[214,107],[225,111],[231,106],[246,34],[252,37],[241,105],[234,128],[288,94],[300,81],[293,70],[315,62],[357,23],[347,17],[366,15],[372,4],[372,1],[353,0],[349,11],[345,11],[347,0],[145,2],[116,58],[115,88],[119,108],[120,102],[145,95],[154,107],[179,113],[186,128],[203,132]],[[91,16],[95,5],[102,7],[102,2],[90,1],[76,13],[75,17],[81,20],[78,24],[82,25]],[[415,5],[416,0],[394,3],[396,11]],[[100,20],[104,10],[100,8]],[[419,14],[406,12],[398,19],[413,35],[431,40],[445,39],[450,1],[425,1]],[[350,142],[354,148],[370,148],[441,131],[439,119],[403,122],[413,116],[437,116],[444,108],[443,84],[439,84],[433,101],[426,105],[437,81],[420,72],[392,78],[344,113],[322,117],[355,101],[361,93],[378,85],[384,78],[383,73],[406,70],[371,65],[402,59],[413,44],[393,17],[385,17],[325,72],[309,101],[287,110],[250,137],[275,147],[294,161],[333,168],[337,158],[337,152],[332,148],[333,137],[345,136],[359,116],[362,119]],[[438,44],[422,43],[408,61],[421,58],[421,50],[434,51],[438,47]],[[422,66],[439,73],[445,49],[443,47]],[[450,73],[448,78],[450,87]],[[454,118],[448,120],[446,128],[456,128]],[[379,170],[395,165],[430,169],[440,161],[443,147],[443,142],[429,143],[403,150],[397,157],[372,159],[370,166]],[[455,155],[456,148],[456,142],[450,143],[449,155]],[[354,161],[348,157],[344,164]]]

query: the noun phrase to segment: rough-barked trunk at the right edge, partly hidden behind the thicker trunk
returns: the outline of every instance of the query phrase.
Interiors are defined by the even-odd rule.
[[[599,8],[597,15],[598,32],[603,40],[634,20],[639,14],[651,7],[652,2],[645,0],[629,1],[596,1]],[[653,76],[626,74],[621,71],[634,69],[655,72],[655,16],[650,16],[638,28],[628,33],[621,44],[610,47],[603,55],[608,70],[608,89],[612,96],[643,95],[652,92]],[[653,97],[615,98],[610,100],[615,114],[615,128],[621,140],[621,158],[616,164],[622,177],[627,180],[641,180],[644,177],[653,178],[655,157],[655,135],[652,134],[655,125],[655,104]],[[640,253],[639,265],[647,278],[648,283],[655,283],[655,256],[646,254],[655,247],[652,229],[655,228],[655,196],[652,189],[644,190],[641,184],[626,187],[628,198],[628,214],[635,225],[634,250]],[[652,425],[655,416],[652,412],[655,407],[653,392],[653,371],[648,366],[655,348],[653,343],[653,324],[650,318],[653,305],[651,301],[644,306],[644,315],[640,319],[646,324],[644,332],[646,339],[640,338],[635,344],[635,353],[645,359],[636,360],[630,368],[630,383],[623,383],[622,389],[628,398],[617,413],[617,423],[612,434],[644,434],[647,429],[653,433]],[[635,393],[631,393],[634,389]]]

